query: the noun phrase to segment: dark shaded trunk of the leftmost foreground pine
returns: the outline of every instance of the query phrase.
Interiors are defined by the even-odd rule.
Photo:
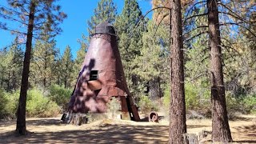
[[[30,73],[30,54],[32,48],[32,38],[33,38],[33,25],[34,25],[34,10],[35,4],[34,1],[30,1],[30,16],[29,24],[27,29],[26,36],[26,52],[23,62],[22,70],[22,86],[18,102],[17,110],[17,125],[16,132],[17,134],[26,134],[26,92],[28,90],[28,78]]]

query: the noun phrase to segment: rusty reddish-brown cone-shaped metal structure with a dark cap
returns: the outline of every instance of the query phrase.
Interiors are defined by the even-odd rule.
[[[112,31],[106,34],[104,28],[111,28]],[[105,113],[106,103],[111,97],[116,97],[122,106],[122,113],[125,115],[129,112],[131,119],[139,121],[138,111],[127,88],[113,30],[113,26],[107,23],[96,27],[96,34],[91,38],[74,94],[70,99],[69,112]]]

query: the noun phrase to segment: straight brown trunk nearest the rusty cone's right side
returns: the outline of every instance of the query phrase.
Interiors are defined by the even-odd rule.
[[[170,98],[170,130],[169,143],[183,143],[186,133],[186,106],[184,90],[184,64],[182,39],[181,1],[170,1],[171,17],[171,98]]]

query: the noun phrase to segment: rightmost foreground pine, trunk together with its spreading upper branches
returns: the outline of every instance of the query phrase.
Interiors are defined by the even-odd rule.
[[[218,6],[222,7],[218,8]],[[204,10],[205,12],[202,11],[202,9],[205,9],[202,7],[207,7],[207,13],[205,13],[206,10]],[[226,86],[224,83],[223,62],[225,62],[225,66],[230,66],[230,64],[226,62],[230,63],[229,57],[233,58],[235,51],[232,46],[234,42],[230,41],[230,39],[233,39],[232,33],[239,35],[238,30],[234,30],[231,26],[240,26],[240,28],[248,30],[243,24],[250,22],[246,16],[250,15],[248,12],[250,13],[250,11],[253,10],[250,8],[252,8],[250,7],[250,2],[247,1],[239,2],[239,4],[233,1],[217,2],[214,0],[194,2],[194,6],[190,7],[190,11],[192,11],[191,16],[186,17],[184,20],[184,22],[190,24],[200,22],[200,25],[188,26],[190,33],[198,31],[198,34],[194,34],[191,38],[188,38],[189,40],[193,40],[202,34],[209,34],[208,37],[210,38],[207,45],[210,46],[208,49],[210,50],[211,104],[213,117],[212,138],[214,142],[232,141],[226,110]],[[208,16],[208,18],[206,16]],[[208,26],[205,25],[205,22],[208,22]],[[226,26],[226,28],[222,28],[221,26]],[[207,30],[206,28],[209,29]],[[232,29],[233,32],[231,32]],[[227,68],[226,70],[230,71],[231,69]],[[234,71],[231,71],[231,75],[226,75],[226,80],[229,81],[229,79],[231,79],[231,82],[226,82],[228,85],[230,85],[229,83],[236,83],[237,78],[232,78],[232,75],[235,75]]]

